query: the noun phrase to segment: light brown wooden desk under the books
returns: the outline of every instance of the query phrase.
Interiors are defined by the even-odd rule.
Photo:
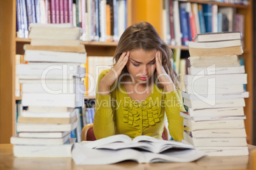
[[[196,162],[189,163],[155,163],[138,164],[132,161],[120,162],[106,166],[78,166],[72,158],[17,158],[13,156],[13,145],[0,144],[0,169],[63,169],[63,170],[82,170],[82,169],[256,169],[256,147],[248,145],[249,156],[236,157],[203,157]]]

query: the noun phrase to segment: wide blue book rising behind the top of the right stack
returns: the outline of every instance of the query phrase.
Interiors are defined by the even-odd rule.
[[[203,4],[204,22],[206,32],[212,32],[212,4]]]

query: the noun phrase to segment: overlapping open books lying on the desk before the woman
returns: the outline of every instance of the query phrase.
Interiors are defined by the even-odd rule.
[[[192,162],[206,155],[190,144],[125,134],[109,136],[89,143],[76,143],[72,156],[76,164],[114,164],[124,160],[138,163]]]

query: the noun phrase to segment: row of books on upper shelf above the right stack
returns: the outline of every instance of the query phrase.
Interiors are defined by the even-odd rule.
[[[245,16],[234,7],[174,0],[164,0],[163,7],[163,39],[171,45],[188,46],[196,34],[225,31],[242,32],[243,44]]]

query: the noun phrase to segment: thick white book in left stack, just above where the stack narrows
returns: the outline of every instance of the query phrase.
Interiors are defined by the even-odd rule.
[[[49,107],[82,107],[83,94],[45,94],[23,93],[22,105],[24,106],[49,106]]]

